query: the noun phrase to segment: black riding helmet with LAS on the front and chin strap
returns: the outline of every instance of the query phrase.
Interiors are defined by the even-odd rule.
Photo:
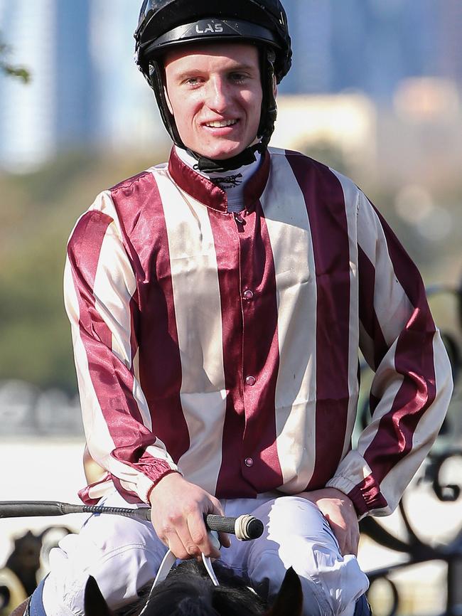
[[[247,148],[228,161],[200,161],[200,169],[236,169],[254,160],[254,150],[267,147],[276,120],[273,78],[276,83],[291,66],[291,39],[284,7],[279,0],[144,0],[139,14],[135,60],[154,90],[163,124],[173,142],[186,149],[163,90],[163,51],[188,43],[240,41],[257,45],[262,74],[262,115],[258,129],[261,144]],[[238,159],[238,160],[235,160]],[[232,166],[230,166],[232,165]]]

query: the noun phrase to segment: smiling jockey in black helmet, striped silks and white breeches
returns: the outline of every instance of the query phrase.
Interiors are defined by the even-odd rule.
[[[367,614],[358,520],[387,515],[429,452],[451,369],[416,267],[345,176],[268,147],[291,65],[279,0],[144,0],[136,63],[173,140],[166,164],[100,193],[68,244],[65,304],[92,516],[33,597],[82,615],[136,599],[167,549],[221,558],[303,614]],[[353,447],[358,353],[375,371]],[[251,513],[261,538],[203,514]]]

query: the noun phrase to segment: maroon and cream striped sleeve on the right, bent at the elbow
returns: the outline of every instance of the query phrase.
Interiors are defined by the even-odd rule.
[[[360,349],[375,371],[370,424],[328,486],[358,516],[392,513],[443,423],[451,366],[421,276],[392,230],[358,194]]]

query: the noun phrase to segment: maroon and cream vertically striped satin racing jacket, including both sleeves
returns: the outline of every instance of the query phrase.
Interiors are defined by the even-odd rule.
[[[270,149],[227,213],[171,153],[101,193],[68,243],[65,304],[87,444],[149,502],[179,470],[219,498],[335,487],[389,514],[426,456],[451,369],[419,272],[348,179]],[[352,448],[358,349],[375,371]]]

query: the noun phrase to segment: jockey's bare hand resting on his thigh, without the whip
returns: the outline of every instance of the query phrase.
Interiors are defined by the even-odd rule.
[[[360,527],[352,501],[335,488],[324,488],[299,494],[316,504],[328,521],[340,546],[340,553],[358,556]]]

